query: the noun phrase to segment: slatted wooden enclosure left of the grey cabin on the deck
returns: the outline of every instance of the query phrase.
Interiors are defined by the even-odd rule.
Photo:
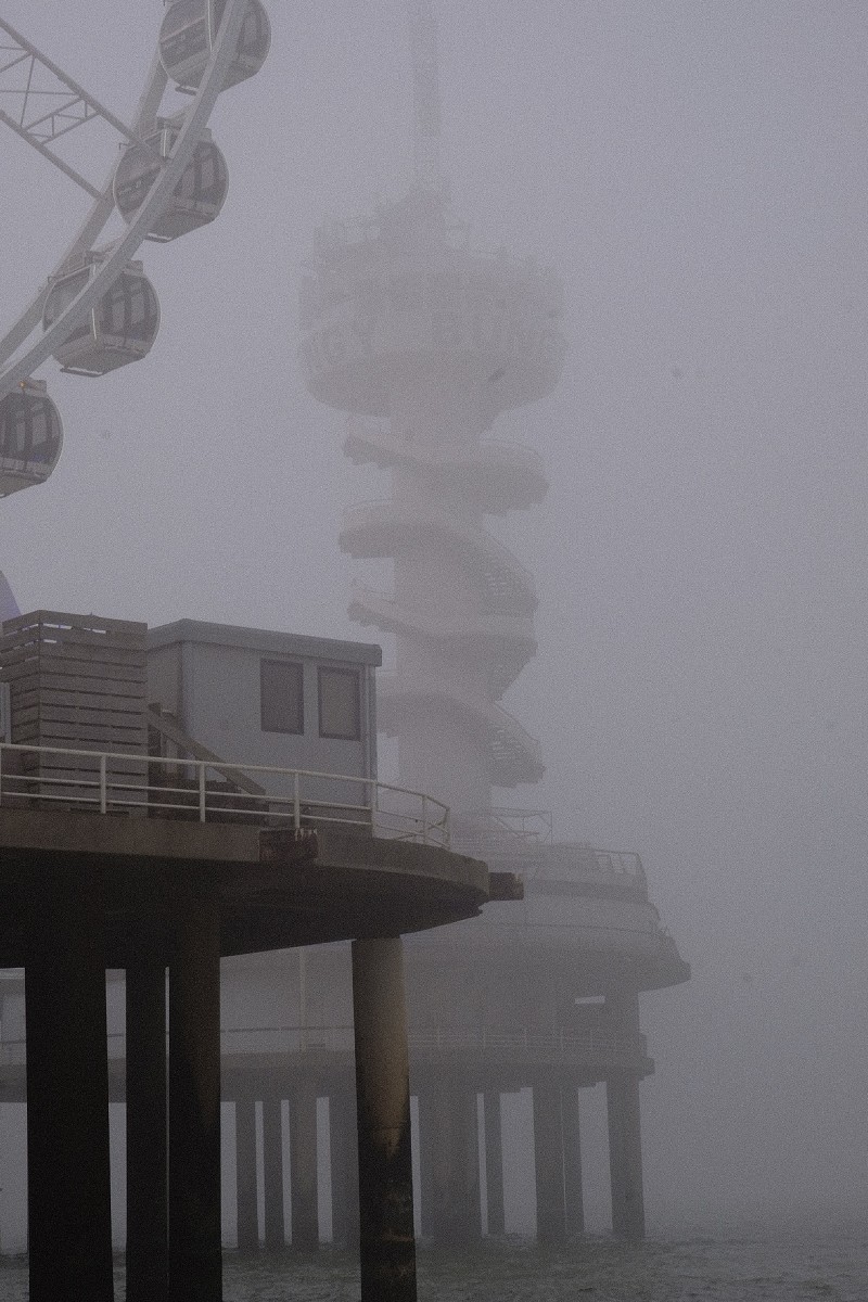
[[[3,624],[0,681],[10,687],[12,742],[147,755],[147,625],[35,611]],[[86,807],[98,799],[99,760],[23,754],[10,796]],[[107,766],[109,807],[144,805],[147,763]],[[4,793],[5,799],[5,793]]]

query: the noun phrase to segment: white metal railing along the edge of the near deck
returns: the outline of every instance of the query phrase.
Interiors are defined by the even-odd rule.
[[[370,777],[3,742],[0,807],[10,806],[62,806],[200,823],[331,824],[444,848],[450,840],[446,805]]]

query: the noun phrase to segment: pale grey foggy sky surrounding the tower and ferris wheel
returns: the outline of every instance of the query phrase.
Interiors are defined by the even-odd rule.
[[[131,112],[157,0],[3,8]],[[403,5],[269,9],[269,61],[212,117],[226,208],[143,251],[152,354],[98,384],[42,372],[64,457],[0,506],[22,609],[370,637],[344,613],[337,534],[380,483],[305,391],[295,302],[319,223],[409,184]],[[566,286],[563,379],[496,427],[552,480],[541,509],[495,525],[541,589],[540,654],[506,704],[548,773],[508,798],[554,810],[562,837],[638,849],[694,971],[643,996],[651,1223],[858,1208],[868,12],[436,12],[454,211],[474,243],[534,254]],[[87,132],[100,174],[116,146]],[[0,159],[8,323],[90,201],[12,133]]]

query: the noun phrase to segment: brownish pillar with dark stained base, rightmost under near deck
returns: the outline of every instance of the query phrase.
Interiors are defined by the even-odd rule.
[[[362,1302],[415,1302],[403,947],[353,941]]]

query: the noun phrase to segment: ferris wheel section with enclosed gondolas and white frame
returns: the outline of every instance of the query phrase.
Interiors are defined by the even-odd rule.
[[[207,122],[220,92],[255,76],[269,46],[260,0],[165,0],[125,124],[0,17],[0,122],[92,199],[55,271],[0,339],[0,497],[43,483],[60,457],[62,423],[35,378],[40,366],[55,358],[69,374],[99,378],[150,352],[160,307],[134,255],[144,241],[180,238],[219,215],[229,173]],[[181,96],[180,108],[167,105]],[[121,145],[102,186],[55,147],[95,120]]]

